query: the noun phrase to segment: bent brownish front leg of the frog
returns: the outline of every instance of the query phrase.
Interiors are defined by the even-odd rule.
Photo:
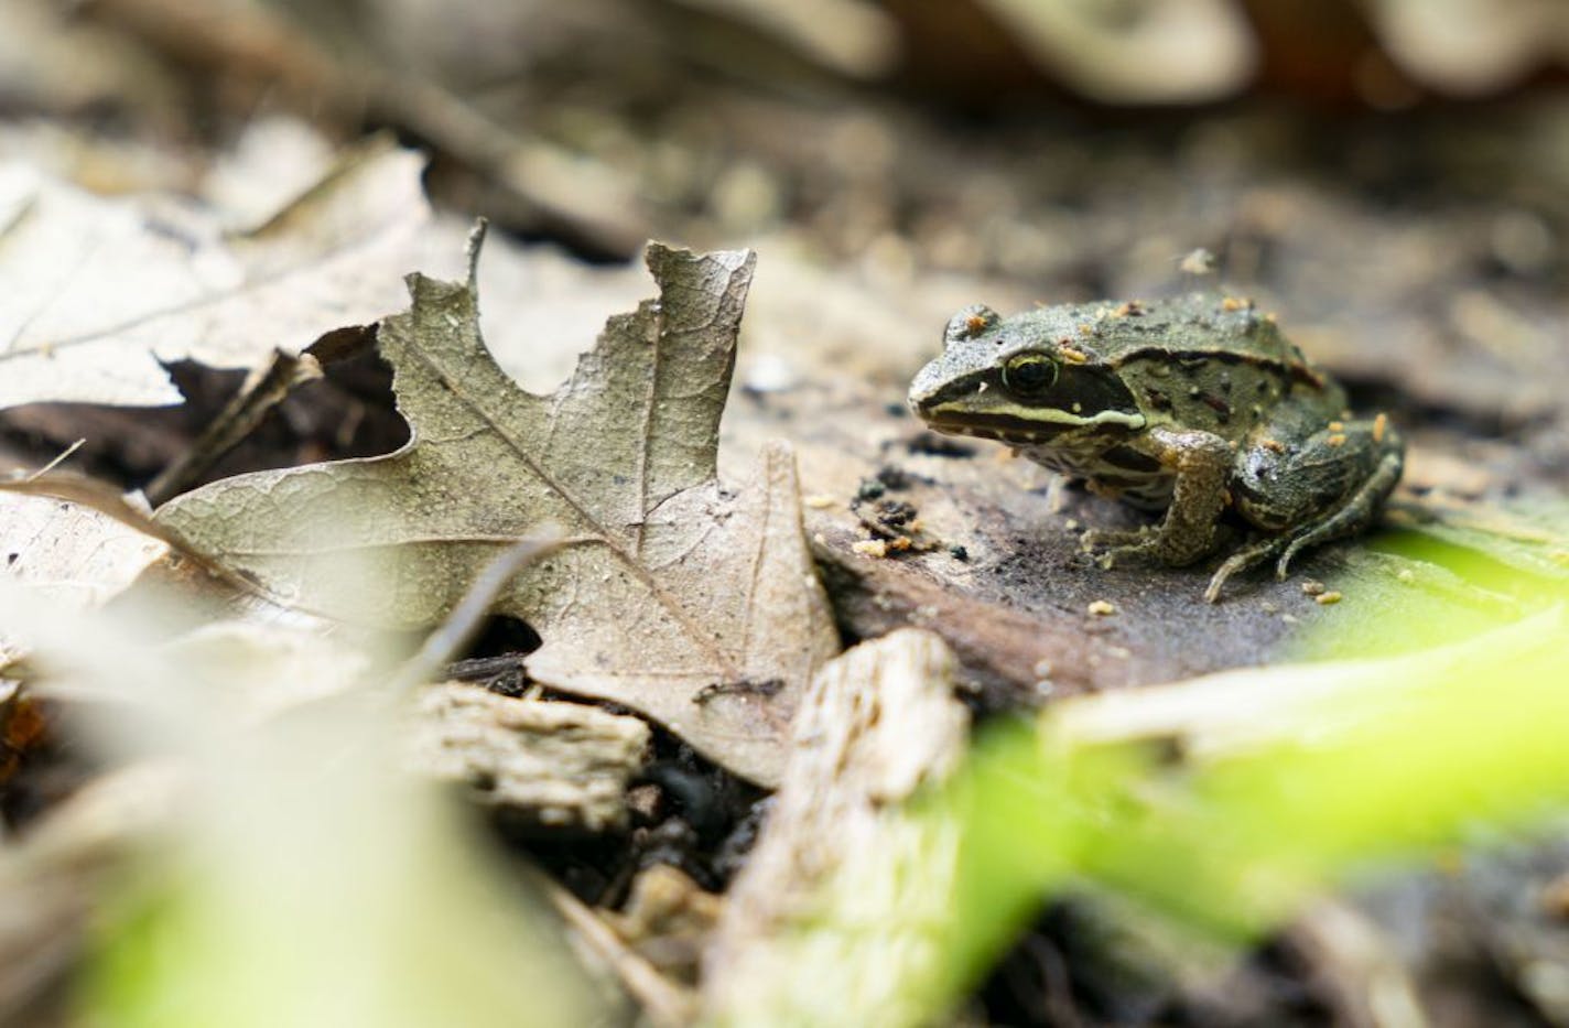
[[[1136,449],[1175,476],[1172,502],[1159,526],[1139,532],[1136,541],[1114,546],[1105,557],[1106,567],[1123,556],[1149,556],[1161,563],[1181,565],[1210,554],[1232,476],[1230,444],[1210,432],[1150,428]],[[1122,543],[1127,538],[1127,534],[1111,532],[1084,535],[1087,545]]]

